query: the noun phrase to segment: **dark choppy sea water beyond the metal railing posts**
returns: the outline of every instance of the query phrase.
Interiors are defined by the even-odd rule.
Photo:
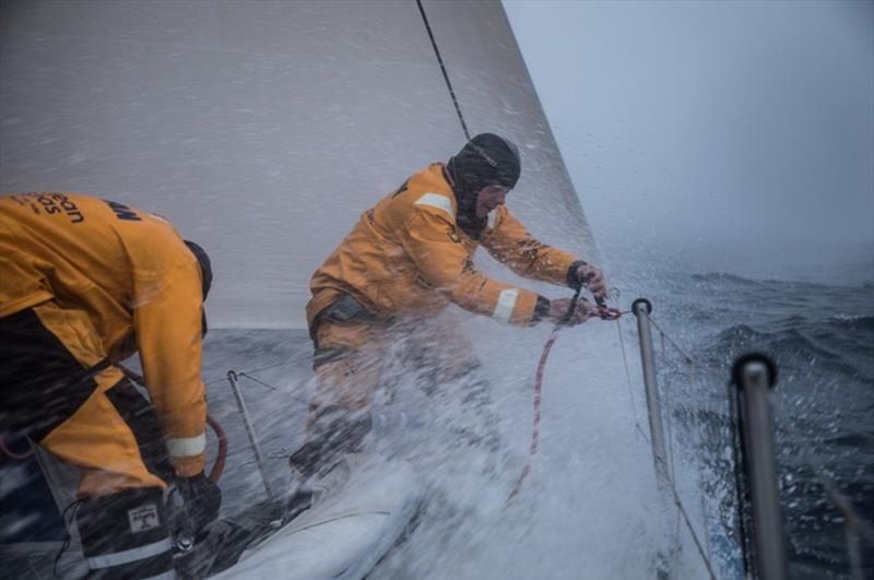
[[[648,288],[668,334],[653,334],[660,363],[664,353],[664,416],[699,473],[711,541],[736,521],[725,404],[732,363],[751,351],[777,363],[772,412],[792,578],[849,577],[848,540],[859,542],[866,577],[874,573],[872,538],[848,529],[827,489],[849,500],[853,518],[874,522],[873,281],[869,255],[771,275],[650,271],[629,284]]]

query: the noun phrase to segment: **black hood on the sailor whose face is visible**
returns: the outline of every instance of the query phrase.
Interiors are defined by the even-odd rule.
[[[458,225],[473,239],[480,239],[488,218],[476,217],[476,194],[485,186],[516,187],[522,170],[519,150],[508,139],[481,133],[449,159],[446,168],[453,180]]]

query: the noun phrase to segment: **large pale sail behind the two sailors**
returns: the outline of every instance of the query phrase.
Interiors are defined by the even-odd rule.
[[[591,256],[499,2],[424,9],[471,132],[520,146],[509,206]],[[0,59],[0,190],[166,215],[213,259],[213,328],[302,328],[358,215],[465,141],[414,1],[7,2]]]

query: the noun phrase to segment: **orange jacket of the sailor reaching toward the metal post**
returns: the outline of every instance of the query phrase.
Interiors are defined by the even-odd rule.
[[[457,211],[444,165],[435,163],[364,212],[312,275],[310,329],[341,293],[378,316],[430,313],[453,301],[503,322],[530,323],[538,295],[476,271],[479,245],[517,274],[556,284],[567,282],[576,258],[534,239],[503,205],[479,241],[458,226]]]

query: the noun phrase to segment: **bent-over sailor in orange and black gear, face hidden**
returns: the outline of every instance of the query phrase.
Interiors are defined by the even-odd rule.
[[[166,220],[73,193],[0,196],[0,434],[80,469],[95,578],[173,573],[163,492],[202,526],[209,258]],[[116,363],[139,351],[152,403]]]

